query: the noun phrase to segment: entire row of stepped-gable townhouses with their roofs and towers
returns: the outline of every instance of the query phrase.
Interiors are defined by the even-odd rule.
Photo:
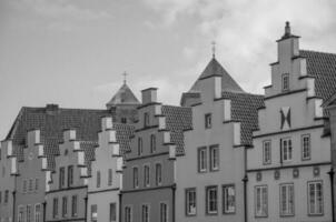
[[[181,105],[126,82],[107,110],[22,108],[0,221],[335,221],[336,54],[286,23],[265,95],[211,58]]]

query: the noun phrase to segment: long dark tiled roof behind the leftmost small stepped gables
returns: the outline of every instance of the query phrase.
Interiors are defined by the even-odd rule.
[[[77,140],[98,141],[102,117],[113,115],[108,110],[61,109],[58,105],[46,108],[23,107],[6,140],[12,140],[14,154],[23,160],[23,147],[27,145],[27,131],[40,130],[40,140],[48,159],[48,169],[55,167],[55,154],[59,154],[59,143],[63,140],[63,130],[75,129]]]

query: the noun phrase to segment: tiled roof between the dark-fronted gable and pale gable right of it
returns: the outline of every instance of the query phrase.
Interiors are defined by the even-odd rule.
[[[192,128],[191,108],[162,105],[162,114],[166,115],[166,128],[170,131],[170,140],[176,144],[176,154],[184,154],[184,130]]]

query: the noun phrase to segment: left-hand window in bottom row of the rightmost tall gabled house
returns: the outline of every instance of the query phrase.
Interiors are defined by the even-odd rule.
[[[268,193],[266,185],[255,188],[255,215],[257,218],[266,218],[268,211]]]

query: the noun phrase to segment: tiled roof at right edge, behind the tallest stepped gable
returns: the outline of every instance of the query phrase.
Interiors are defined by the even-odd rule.
[[[307,60],[307,74],[315,78],[315,93],[326,101],[336,93],[336,54],[300,50]]]

